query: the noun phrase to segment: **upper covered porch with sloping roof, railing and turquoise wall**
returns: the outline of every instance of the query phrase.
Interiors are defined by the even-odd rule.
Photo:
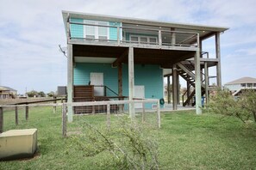
[[[67,43],[122,46],[175,51],[198,51],[203,39],[225,27],[148,21],[63,11]]]

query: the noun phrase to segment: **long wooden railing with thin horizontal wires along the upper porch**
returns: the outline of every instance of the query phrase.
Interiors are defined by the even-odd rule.
[[[88,32],[86,32],[86,28]],[[91,33],[89,28],[92,32],[101,31]],[[159,48],[165,46],[198,47],[199,45],[198,33],[171,31],[170,27],[167,30],[166,27],[158,29],[135,25],[134,27],[121,27],[67,21],[67,29],[68,40],[80,39],[90,44],[116,43],[118,46],[156,46]],[[132,36],[136,36],[138,39],[132,39]]]

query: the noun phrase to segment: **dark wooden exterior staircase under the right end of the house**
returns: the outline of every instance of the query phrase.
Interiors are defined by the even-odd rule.
[[[177,69],[178,69],[178,75],[182,76],[184,78],[185,81],[187,81],[190,86],[187,89],[187,91],[183,94],[183,106],[187,106],[191,103],[192,106],[196,105],[196,102],[193,101],[193,96],[196,94],[196,75],[194,73],[195,70],[195,65],[190,62],[190,61],[186,61],[185,63],[178,63],[177,64]],[[203,76],[203,73],[201,72],[201,77]],[[205,94],[205,84],[203,83],[203,81],[201,81],[201,91],[202,91],[202,96],[203,94]],[[193,91],[190,93],[190,88],[193,87]],[[188,98],[184,101],[184,95],[187,95],[188,93],[189,96]]]

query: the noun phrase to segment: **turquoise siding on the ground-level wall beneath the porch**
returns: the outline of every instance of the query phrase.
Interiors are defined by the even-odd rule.
[[[91,79],[91,72],[102,72],[104,85],[118,93],[118,72],[111,64],[77,63],[74,68],[74,85],[87,85]],[[159,65],[134,65],[134,85],[145,86],[145,98],[163,98],[163,72]],[[128,96],[128,64],[122,67],[122,91]],[[108,92],[108,96],[115,94]],[[151,105],[147,105],[151,107]]]

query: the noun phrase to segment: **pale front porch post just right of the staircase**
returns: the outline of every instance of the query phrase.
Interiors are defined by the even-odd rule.
[[[202,92],[201,92],[201,72],[200,72],[200,53],[195,54],[195,75],[196,75],[196,112],[202,114]]]

